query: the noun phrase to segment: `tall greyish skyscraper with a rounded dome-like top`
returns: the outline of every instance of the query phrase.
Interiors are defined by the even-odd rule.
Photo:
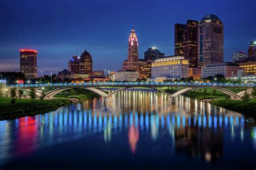
[[[215,15],[204,16],[198,24],[198,66],[223,62],[224,26]]]

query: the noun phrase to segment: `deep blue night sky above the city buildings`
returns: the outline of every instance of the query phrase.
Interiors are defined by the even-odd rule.
[[[36,49],[38,72],[57,73],[86,49],[93,70],[122,68],[135,25],[139,58],[156,46],[174,54],[174,24],[217,15],[224,24],[224,61],[256,40],[255,0],[2,0],[0,1],[0,71],[19,70],[19,49]]]

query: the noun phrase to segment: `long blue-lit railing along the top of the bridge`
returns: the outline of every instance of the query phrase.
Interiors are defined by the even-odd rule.
[[[227,87],[252,87],[256,84],[252,83],[199,83],[199,82],[104,82],[104,83],[41,83],[41,84],[15,84],[8,85],[7,87],[56,87],[56,86],[227,86]]]

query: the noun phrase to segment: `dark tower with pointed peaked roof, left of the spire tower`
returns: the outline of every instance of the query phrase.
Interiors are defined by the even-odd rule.
[[[88,74],[89,76],[93,76],[92,56],[86,50],[80,56],[79,74]]]

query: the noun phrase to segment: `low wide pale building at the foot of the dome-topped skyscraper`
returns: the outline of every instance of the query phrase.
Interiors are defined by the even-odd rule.
[[[238,63],[223,62],[214,63],[201,67],[201,78],[214,77],[217,74],[223,75],[225,78],[234,77],[238,75],[238,70],[243,68],[239,67]]]

